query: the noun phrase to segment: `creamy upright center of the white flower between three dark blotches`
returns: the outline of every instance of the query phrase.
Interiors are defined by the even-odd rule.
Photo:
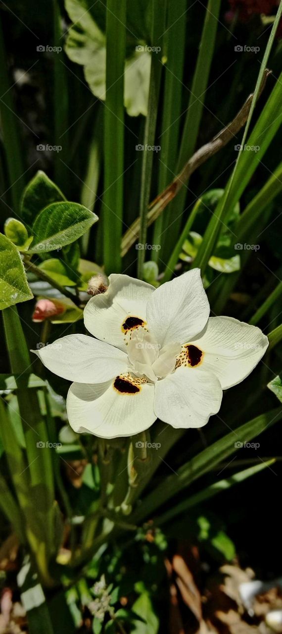
[[[132,372],[155,382],[174,370],[180,352],[181,344],[170,343],[161,348],[149,332],[138,328],[132,332],[127,353]]]

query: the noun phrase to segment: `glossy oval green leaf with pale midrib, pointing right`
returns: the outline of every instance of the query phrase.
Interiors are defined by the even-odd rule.
[[[42,209],[32,228],[31,253],[60,250],[80,238],[98,217],[74,202],[54,202]]]

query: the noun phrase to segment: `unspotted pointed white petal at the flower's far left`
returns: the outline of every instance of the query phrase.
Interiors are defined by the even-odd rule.
[[[54,374],[79,383],[108,381],[128,365],[125,353],[88,335],[67,335],[32,352]]]

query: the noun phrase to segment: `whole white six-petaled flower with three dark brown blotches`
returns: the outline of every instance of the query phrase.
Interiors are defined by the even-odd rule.
[[[219,411],[222,389],[259,363],[267,337],[231,317],[209,318],[199,269],[158,288],[127,275],[109,280],[84,309],[97,339],[68,335],[34,351],[51,372],[74,381],[70,425],[106,438],[138,434],[156,418],[202,427]]]

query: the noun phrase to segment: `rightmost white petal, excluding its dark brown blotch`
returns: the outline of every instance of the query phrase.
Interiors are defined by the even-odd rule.
[[[204,353],[201,368],[213,372],[222,389],[243,381],[269,343],[260,328],[233,317],[210,317],[203,332],[191,342]]]

